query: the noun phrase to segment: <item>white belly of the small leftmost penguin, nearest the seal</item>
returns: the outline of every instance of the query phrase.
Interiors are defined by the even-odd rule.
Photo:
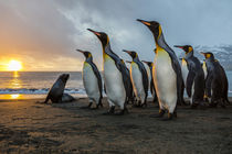
[[[92,66],[88,63],[84,63],[83,72],[83,84],[88,98],[97,99],[99,98],[99,88],[97,77],[95,76]],[[95,100],[97,101],[97,100]]]

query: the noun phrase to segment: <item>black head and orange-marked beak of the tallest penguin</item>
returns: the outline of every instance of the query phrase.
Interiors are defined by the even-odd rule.
[[[155,40],[157,41],[161,34],[161,25],[157,21],[145,21],[137,19],[137,21],[147,25],[147,28],[152,32]]]

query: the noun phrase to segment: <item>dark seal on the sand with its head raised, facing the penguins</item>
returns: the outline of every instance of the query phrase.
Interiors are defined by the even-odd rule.
[[[55,84],[50,89],[44,103],[48,103],[49,100],[51,100],[53,103],[68,102],[75,100],[71,95],[64,94],[64,88],[68,78],[70,78],[68,74],[62,74],[57,78]]]

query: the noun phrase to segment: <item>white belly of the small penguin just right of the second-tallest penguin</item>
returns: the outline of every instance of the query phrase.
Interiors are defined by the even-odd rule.
[[[144,82],[143,82],[143,75],[140,69],[138,68],[138,65],[136,63],[131,63],[130,65],[130,76],[133,81],[133,89],[135,91],[135,95],[138,99],[145,99],[145,90],[144,90]]]

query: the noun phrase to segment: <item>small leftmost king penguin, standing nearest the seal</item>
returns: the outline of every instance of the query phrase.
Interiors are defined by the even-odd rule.
[[[96,103],[96,109],[103,107],[103,84],[99,70],[93,62],[93,56],[87,51],[76,50],[85,56],[85,62],[83,64],[82,78],[83,84],[89,100],[89,105],[85,108],[91,108],[93,102]]]

